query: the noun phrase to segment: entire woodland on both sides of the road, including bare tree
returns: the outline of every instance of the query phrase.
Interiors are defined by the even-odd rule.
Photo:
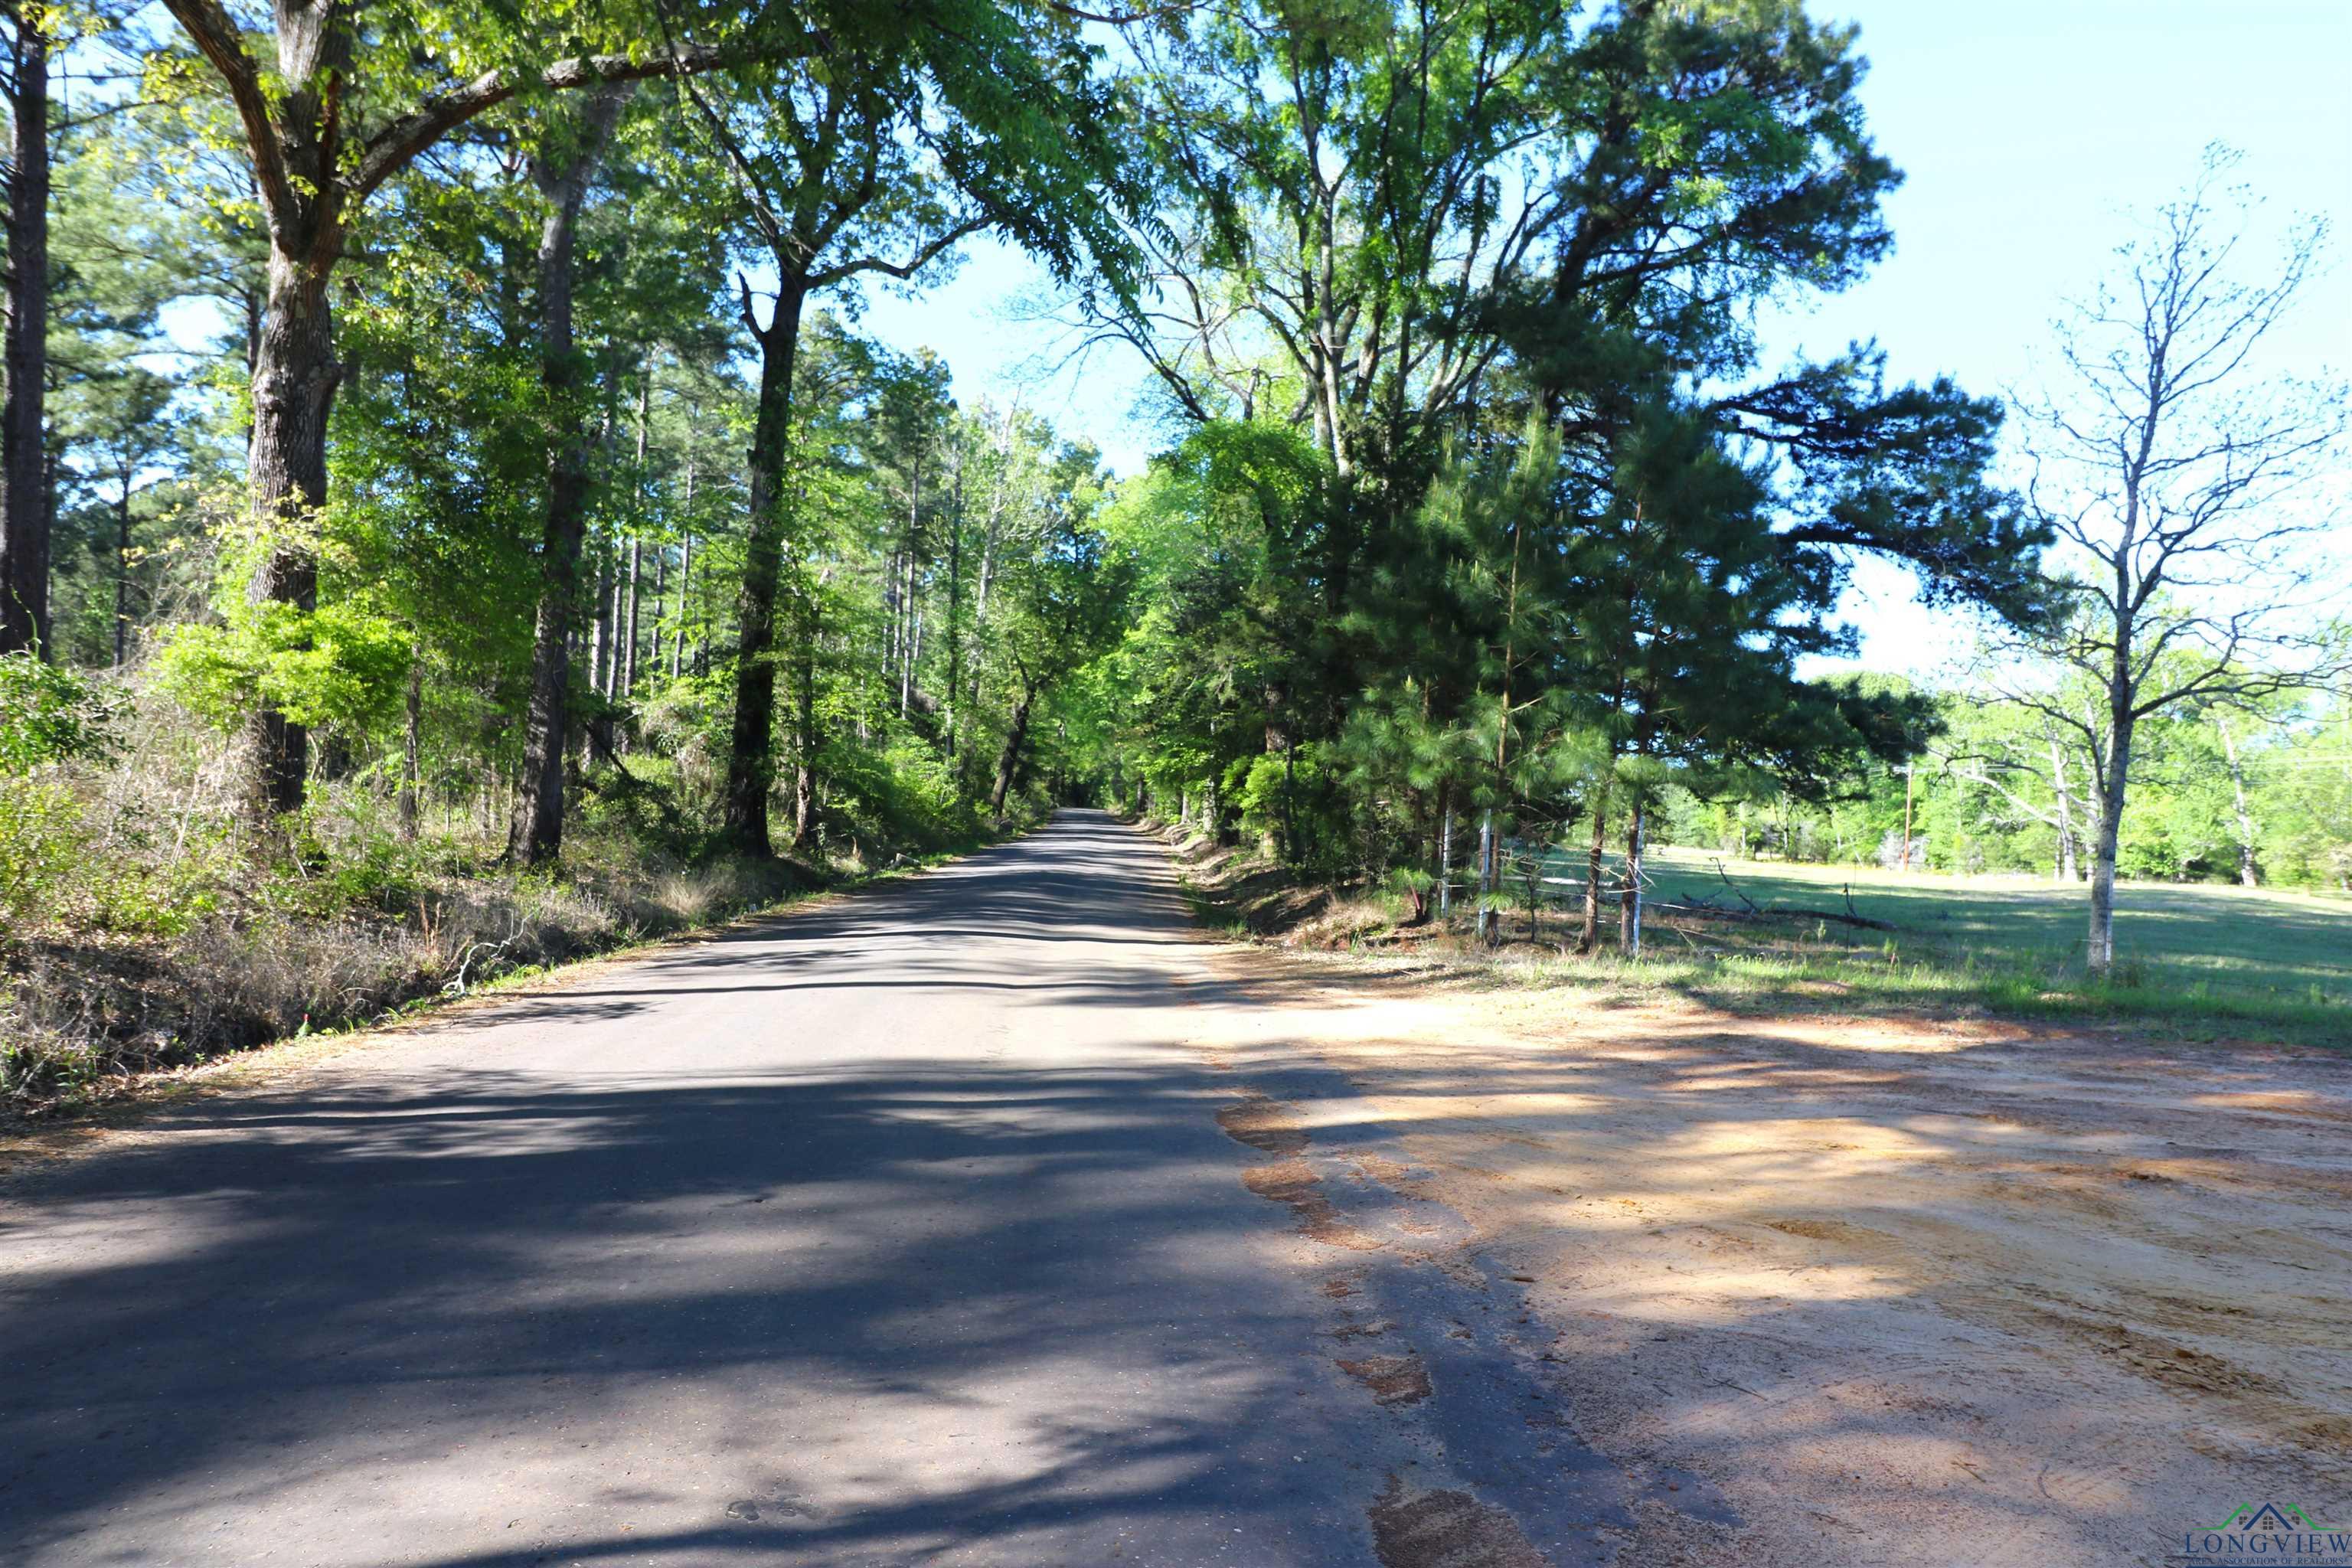
[[[1757,331],[1900,179],[1795,0],[539,16],[5,24],[9,1093],[1056,802],[1414,910],[1552,844],[1581,952],[1668,839],[2352,884],[2345,404],[2249,390],[2321,237],[2225,169],[2006,409]],[[861,331],[983,233],[1145,473]],[[1818,675],[1865,557],[1973,677]]]

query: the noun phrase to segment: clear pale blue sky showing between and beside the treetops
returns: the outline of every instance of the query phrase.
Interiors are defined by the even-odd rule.
[[[2336,266],[2274,364],[2352,371],[2352,0],[1818,0],[1813,14],[1860,24],[1863,103],[1907,179],[1889,202],[1896,254],[1860,287],[1776,317],[1776,357],[1877,339],[1896,378],[2030,388],[2051,317],[2100,275],[2131,214],[2225,141],[2281,216],[2336,223]],[[1056,343],[1018,320],[1018,301],[1040,282],[1018,254],[978,247],[953,282],[875,299],[866,327],[946,355],[960,397],[1025,386],[1030,407],[1134,473],[1164,444],[1134,418],[1141,371],[1098,353],[1037,383]],[[1962,637],[1924,621],[1900,576],[1860,583],[1849,614],[1863,663],[1933,670]]]

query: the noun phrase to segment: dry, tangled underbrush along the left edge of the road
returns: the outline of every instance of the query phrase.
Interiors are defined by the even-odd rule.
[[[983,837],[978,820],[917,832],[861,809],[823,860],[727,858],[675,759],[640,752],[583,778],[560,867],[524,872],[503,863],[496,783],[442,790],[407,837],[381,776],[322,780],[259,839],[216,736],[162,703],[113,733],[129,738],[0,776],[0,1112],[87,1105]]]

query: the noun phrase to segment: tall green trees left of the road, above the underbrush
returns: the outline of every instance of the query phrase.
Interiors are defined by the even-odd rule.
[[[1077,19],[162,12],[14,16],[19,136],[66,179],[12,183],[52,369],[9,376],[40,437],[5,646],[136,658],[233,741],[263,846],[365,766],[402,832],[468,780],[548,865],[583,780],[680,724],[736,853],[910,771],[943,792],[910,823],[1004,809],[1101,635],[1103,475],[863,339],[854,287],[981,230],[1122,275]],[[61,71],[89,115],[26,96]],[[167,331],[195,301],[214,355]]]

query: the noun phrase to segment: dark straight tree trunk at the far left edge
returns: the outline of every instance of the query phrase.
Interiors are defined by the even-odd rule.
[[[0,654],[49,656],[49,38],[47,12],[14,7],[16,120],[7,209],[7,390],[0,395]],[[115,661],[120,663],[120,658]]]

